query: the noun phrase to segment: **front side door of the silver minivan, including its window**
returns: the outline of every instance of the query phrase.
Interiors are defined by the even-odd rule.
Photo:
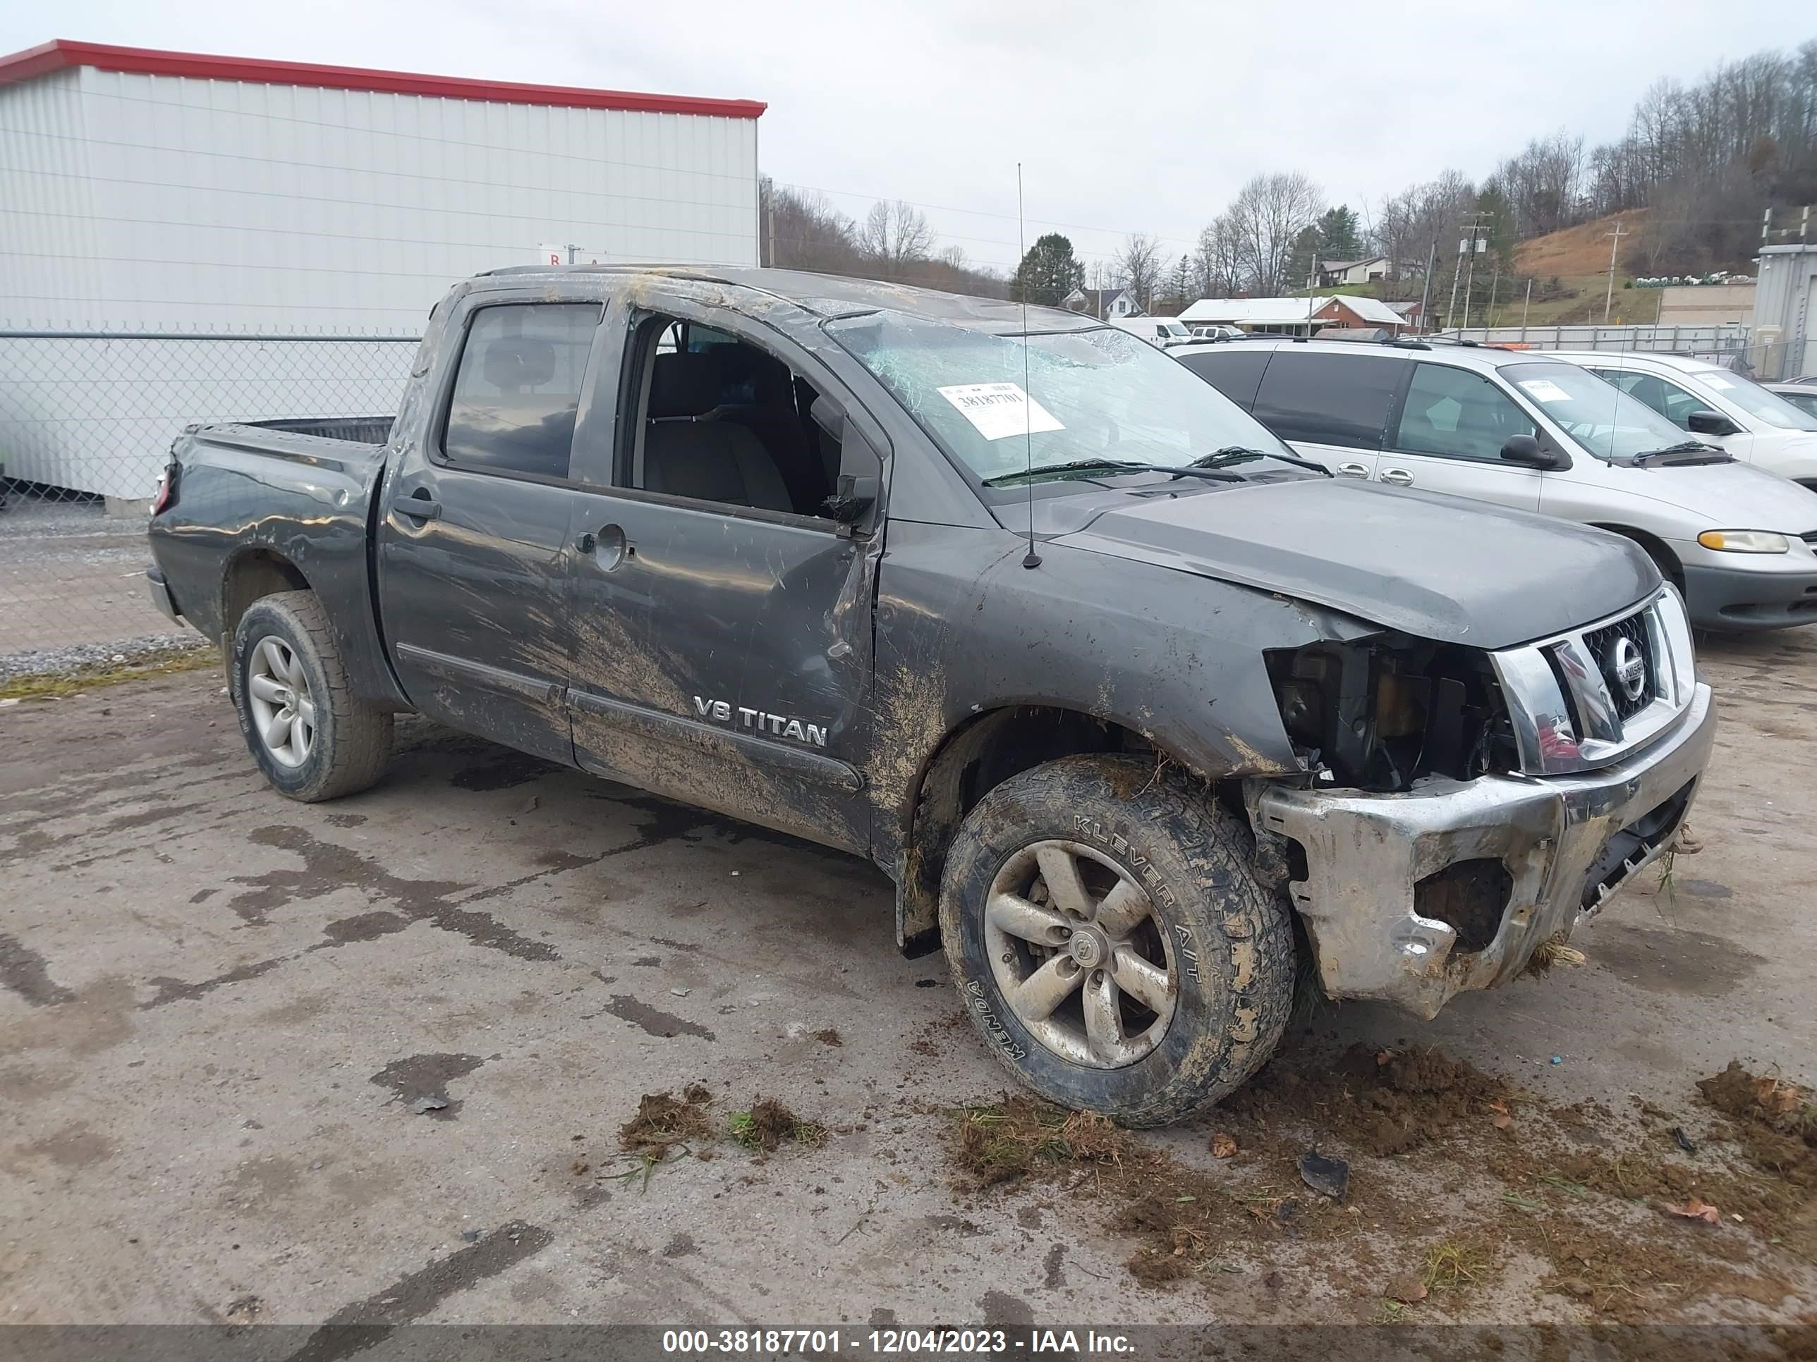
[[[1377,478],[1392,487],[1539,510],[1544,474],[1501,458],[1510,436],[1541,438],[1541,432],[1501,385],[1472,369],[1421,360]]]

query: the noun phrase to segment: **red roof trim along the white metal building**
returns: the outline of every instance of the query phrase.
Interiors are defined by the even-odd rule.
[[[207,56],[205,53],[160,53],[151,47],[109,47],[96,42],[58,38],[24,53],[0,56],[0,85],[31,80],[51,71],[91,65],[98,71],[131,71],[144,76],[187,76],[191,80],[253,80],[265,85],[313,85],[318,89],[362,89],[382,94],[427,94],[443,100],[487,100],[491,104],[549,104],[569,109],[625,109],[630,113],[689,113],[718,118],[756,118],[769,105],[760,100],[700,100],[689,94],[638,94],[620,89],[580,85],[525,85],[514,80],[467,80],[462,76],[423,76],[409,71],[371,71],[354,65],[316,65],[314,62],[262,62],[251,56]]]

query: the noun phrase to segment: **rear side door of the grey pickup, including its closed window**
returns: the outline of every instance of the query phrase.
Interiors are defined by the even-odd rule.
[[[480,294],[422,445],[378,523],[378,590],[403,694],[454,728],[572,763],[567,683],[571,454],[600,303]]]

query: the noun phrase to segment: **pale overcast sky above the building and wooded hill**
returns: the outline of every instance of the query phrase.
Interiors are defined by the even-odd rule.
[[[763,169],[863,216],[921,203],[987,265],[1154,232],[1168,256],[1257,171],[1366,212],[1559,127],[1621,133],[1659,76],[1817,36],[1808,0],[0,0],[49,38],[769,102]]]

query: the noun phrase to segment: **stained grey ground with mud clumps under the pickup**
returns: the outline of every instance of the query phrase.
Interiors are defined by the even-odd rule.
[[[205,672],[0,710],[0,1320],[1808,1326],[1817,637],[1703,663],[1586,962],[1143,1135],[1003,1106],[858,861],[420,723],[291,804]]]

